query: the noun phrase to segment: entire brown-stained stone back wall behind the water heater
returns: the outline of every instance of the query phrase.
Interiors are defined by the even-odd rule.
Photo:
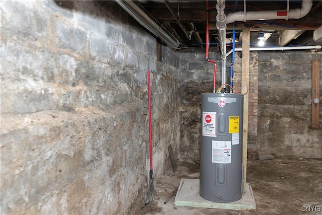
[[[194,159],[198,159],[200,153],[201,93],[212,92],[209,81],[213,70],[208,67],[211,63],[201,63],[203,57],[203,53],[185,52],[180,55],[183,80],[181,155]],[[249,154],[260,151],[279,156],[321,158],[322,133],[320,129],[309,128],[311,60],[315,58],[321,59],[321,55],[307,51],[250,53]],[[238,55],[233,68],[234,88],[240,92],[244,77],[240,72],[241,58]],[[220,73],[220,65],[217,73]],[[216,85],[220,85],[220,77]]]

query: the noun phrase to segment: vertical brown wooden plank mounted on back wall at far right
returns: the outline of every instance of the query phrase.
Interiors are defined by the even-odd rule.
[[[319,102],[314,103],[314,99],[320,97],[320,61],[312,60],[312,124],[310,127],[319,128]]]

